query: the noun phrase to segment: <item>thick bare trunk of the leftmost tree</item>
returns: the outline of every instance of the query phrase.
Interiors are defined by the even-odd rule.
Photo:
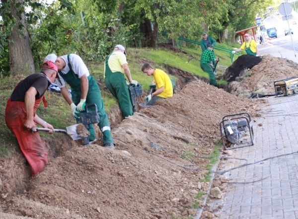
[[[35,73],[33,55],[30,48],[27,25],[25,23],[25,14],[21,13],[20,18],[17,16],[18,9],[15,6],[16,3],[22,5],[23,1],[11,1],[10,12],[16,19],[16,24],[12,28],[11,34],[8,37],[10,74],[29,75]],[[19,29],[18,27],[21,25],[23,25],[23,27]]]

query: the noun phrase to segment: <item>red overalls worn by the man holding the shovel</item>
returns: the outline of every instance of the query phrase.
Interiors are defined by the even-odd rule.
[[[42,97],[35,100],[34,115],[41,100]],[[48,153],[44,143],[41,141],[39,133],[32,133],[25,128],[24,123],[26,118],[25,103],[11,101],[9,98],[5,110],[5,122],[10,131],[15,135],[20,149],[31,167],[32,176],[35,176],[43,171],[48,164]]]

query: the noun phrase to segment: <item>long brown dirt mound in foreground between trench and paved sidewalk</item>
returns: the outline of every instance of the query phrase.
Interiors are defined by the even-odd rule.
[[[0,218],[194,216],[220,121],[242,111],[256,116],[261,103],[195,80],[117,125],[117,150],[76,146],[51,160],[27,191],[2,198]]]

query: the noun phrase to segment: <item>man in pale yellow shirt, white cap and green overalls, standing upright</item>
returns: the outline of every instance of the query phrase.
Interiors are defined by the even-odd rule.
[[[138,82],[132,79],[125,55],[125,48],[117,45],[114,51],[106,57],[104,65],[104,82],[113,96],[117,98],[124,118],[134,114],[124,74],[130,84],[138,85]]]

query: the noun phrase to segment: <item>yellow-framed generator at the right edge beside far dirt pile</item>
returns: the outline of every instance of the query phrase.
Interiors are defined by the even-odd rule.
[[[298,94],[298,77],[291,77],[274,82],[276,96],[284,95],[291,96]]]

